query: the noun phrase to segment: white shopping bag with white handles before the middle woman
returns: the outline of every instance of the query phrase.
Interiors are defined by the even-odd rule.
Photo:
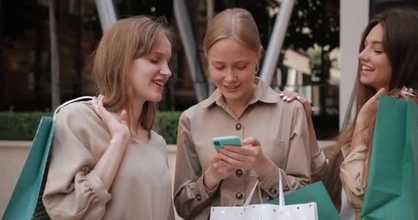
[[[259,184],[256,182],[244,206],[217,206],[210,209],[210,220],[318,220],[316,203],[303,203],[286,206],[283,195],[283,184],[281,172],[279,171],[278,181],[278,206],[272,204],[248,205],[254,191]]]

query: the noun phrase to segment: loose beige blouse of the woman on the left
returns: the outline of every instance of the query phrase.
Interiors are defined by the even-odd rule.
[[[96,115],[91,102],[78,102],[61,109],[43,195],[50,217],[174,219],[164,139],[154,131],[147,143],[134,135],[107,191],[91,170],[110,140],[107,126]]]

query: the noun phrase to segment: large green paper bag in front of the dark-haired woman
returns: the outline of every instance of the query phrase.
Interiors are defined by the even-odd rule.
[[[381,96],[362,219],[418,219],[418,104]]]

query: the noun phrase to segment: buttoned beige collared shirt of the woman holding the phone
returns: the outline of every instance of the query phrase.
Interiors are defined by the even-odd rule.
[[[285,190],[310,183],[307,119],[300,102],[285,102],[269,85],[256,78],[256,89],[240,118],[225,103],[217,89],[203,102],[182,113],[177,137],[174,203],[184,219],[208,219],[210,206],[242,206],[256,183],[254,170],[235,170],[213,190],[203,186],[203,172],[216,153],[212,137],[253,136],[263,153],[280,168]],[[278,197],[278,169],[261,181],[263,199]],[[252,198],[259,203],[259,197]]]

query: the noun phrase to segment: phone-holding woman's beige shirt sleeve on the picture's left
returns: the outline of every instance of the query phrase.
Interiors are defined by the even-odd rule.
[[[174,179],[174,204],[184,219],[192,219],[205,208],[219,186],[207,190],[203,185],[203,172],[190,136],[190,122],[183,113],[177,134],[177,157]]]

